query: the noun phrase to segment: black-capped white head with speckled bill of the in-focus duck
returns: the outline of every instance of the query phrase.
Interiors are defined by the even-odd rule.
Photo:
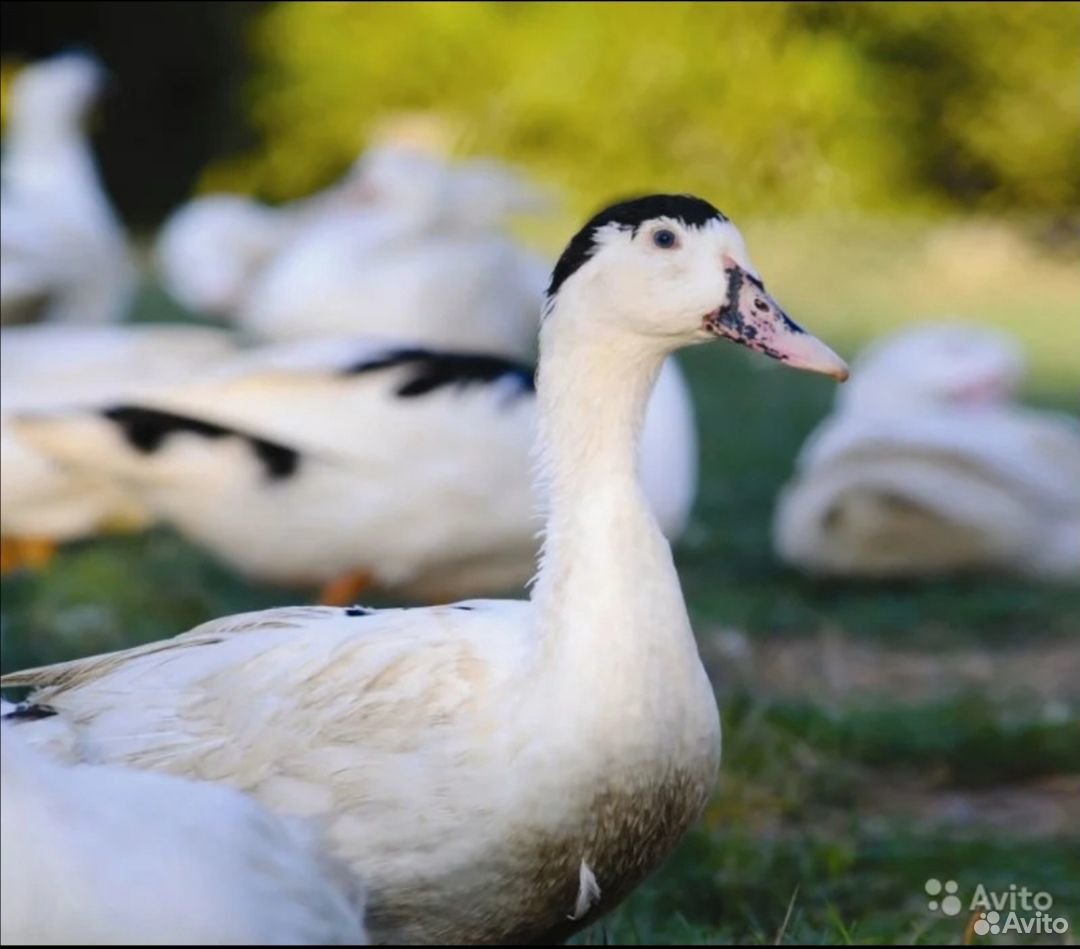
[[[555,266],[545,314],[667,351],[726,339],[794,368],[848,377],[843,360],[766,290],[739,229],[691,195],[652,194],[594,216]]]

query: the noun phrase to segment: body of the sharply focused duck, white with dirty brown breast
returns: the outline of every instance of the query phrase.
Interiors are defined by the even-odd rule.
[[[65,718],[91,715],[79,730],[83,760],[225,782],[272,811],[322,818],[332,852],[374,884],[377,941],[562,938],[615,905],[697,817],[718,722],[702,674],[693,728],[676,715],[687,696],[657,690],[634,696],[640,711],[633,729],[623,722],[633,732],[623,747],[583,754],[616,709],[605,700],[582,718],[530,701],[549,686],[536,680],[534,623],[529,605],[513,601],[267,611],[84,666],[96,688],[121,690],[111,709],[80,707],[89,693],[73,681],[55,697]],[[136,708],[136,690],[166,681],[190,707]],[[132,713],[140,737],[122,721]],[[666,733],[673,715],[689,747]],[[320,735],[312,747],[294,744],[299,720]],[[175,745],[177,730],[202,738]],[[355,746],[364,733],[379,737]],[[600,894],[583,891],[582,863]]]

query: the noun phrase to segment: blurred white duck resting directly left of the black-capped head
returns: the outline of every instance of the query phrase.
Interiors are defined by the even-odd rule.
[[[246,333],[531,350],[546,268],[502,231],[529,200],[509,172],[383,147],[340,193],[256,275],[237,313]]]

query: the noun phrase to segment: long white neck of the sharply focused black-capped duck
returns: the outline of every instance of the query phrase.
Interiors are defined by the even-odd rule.
[[[585,691],[597,705],[648,704],[652,686],[677,688],[672,677],[701,675],[671,547],[637,476],[647,402],[666,352],[564,315],[551,313],[540,337],[537,463],[546,526],[532,601],[543,661],[561,689]]]

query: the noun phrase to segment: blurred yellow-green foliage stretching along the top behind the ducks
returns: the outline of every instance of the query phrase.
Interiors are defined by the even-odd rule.
[[[261,145],[205,184],[340,174],[381,117],[521,163],[572,208],[643,188],[755,214],[1080,205],[1080,3],[278,3]]]

